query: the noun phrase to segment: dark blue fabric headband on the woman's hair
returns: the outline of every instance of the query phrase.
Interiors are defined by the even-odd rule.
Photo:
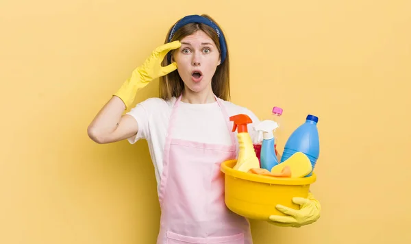
[[[214,22],[212,22],[210,19],[207,19],[206,17],[199,16],[199,15],[188,15],[185,16],[183,19],[175,23],[173,26],[173,29],[171,29],[170,36],[169,36],[169,42],[171,42],[171,39],[173,39],[173,36],[175,32],[184,25],[187,25],[188,23],[203,23],[205,25],[208,25],[215,29],[217,36],[219,36],[219,41],[220,41],[220,50],[221,50],[221,63],[224,62],[225,57],[227,56],[227,46],[225,45],[225,38],[223,35],[223,32],[221,32],[221,29],[219,26],[217,26]],[[171,62],[171,56],[169,55],[169,62]]]

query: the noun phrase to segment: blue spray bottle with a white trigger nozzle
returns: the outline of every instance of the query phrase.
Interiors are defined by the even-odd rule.
[[[279,164],[277,156],[275,155],[275,138],[273,131],[278,127],[277,122],[269,119],[261,121],[255,126],[258,133],[263,134],[263,140],[261,144],[261,168],[271,171],[271,169]]]

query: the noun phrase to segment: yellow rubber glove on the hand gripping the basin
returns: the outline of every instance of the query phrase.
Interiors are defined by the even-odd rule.
[[[277,205],[277,210],[284,212],[288,216],[271,215],[269,223],[282,227],[301,227],[314,223],[320,218],[321,205],[314,198],[312,193],[308,193],[307,198],[294,197],[292,202],[300,205],[299,210]]]

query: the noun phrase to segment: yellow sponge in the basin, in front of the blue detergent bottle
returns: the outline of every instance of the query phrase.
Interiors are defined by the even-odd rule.
[[[301,151],[292,154],[292,156],[284,162],[275,165],[275,167],[271,169],[271,173],[281,173],[286,166],[289,166],[291,169],[291,178],[304,177],[312,171],[310,158]]]

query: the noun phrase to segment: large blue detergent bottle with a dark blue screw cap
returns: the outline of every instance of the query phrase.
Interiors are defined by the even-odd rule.
[[[308,114],[306,117],[306,123],[303,123],[297,127],[297,129],[292,132],[291,136],[288,138],[286,145],[284,146],[280,163],[290,158],[290,156],[295,154],[297,151],[301,151],[303,154],[306,154],[308,158],[310,158],[312,171],[314,171],[316,161],[320,155],[319,130],[317,127],[318,122],[318,117]],[[306,175],[306,177],[311,176],[312,171]]]

